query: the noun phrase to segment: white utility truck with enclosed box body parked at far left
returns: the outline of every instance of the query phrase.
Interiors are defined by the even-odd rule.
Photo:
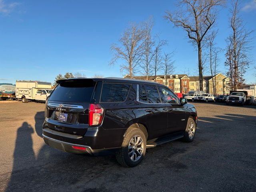
[[[52,92],[52,84],[42,81],[16,81],[16,98],[23,103],[32,101],[46,101]]]

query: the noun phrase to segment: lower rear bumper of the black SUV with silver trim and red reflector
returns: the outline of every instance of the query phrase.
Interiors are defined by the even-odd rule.
[[[56,148],[58,150],[62,150],[64,152],[69,152],[74,154],[89,154],[89,155],[98,156],[98,155],[114,154],[119,149],[119,148],[107,148],[107,149],[93,150],[90,146],[56,140],[54,138],[45,136],[44,134],[42,134],[42,136],[44,138],[44,142],[49,146]],[[76,147],[80,149],[77,149]]]

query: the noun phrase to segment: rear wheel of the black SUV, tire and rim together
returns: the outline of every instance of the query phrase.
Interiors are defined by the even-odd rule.
[[[124,135],[122,147],[116,153],[119,164],[127,167],[135,167],[140,164],[146,153],[146,137],[142,130],[130,128]]]

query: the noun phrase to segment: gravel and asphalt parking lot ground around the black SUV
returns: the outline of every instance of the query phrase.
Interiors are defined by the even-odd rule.
[[[44,104],[0,103],[0,191],[256,191],[256,107],[194,103],[192,143],[147,149],[142,164],[80,156],[42,139]]]

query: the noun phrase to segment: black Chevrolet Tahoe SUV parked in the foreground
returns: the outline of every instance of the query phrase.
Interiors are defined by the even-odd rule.
[[[123,78],[58,80],[46,101],[46,144],[76,154],[116,154],[133,167],[146,148],[182,139],[191,142],[196,109],[166,86]]]

